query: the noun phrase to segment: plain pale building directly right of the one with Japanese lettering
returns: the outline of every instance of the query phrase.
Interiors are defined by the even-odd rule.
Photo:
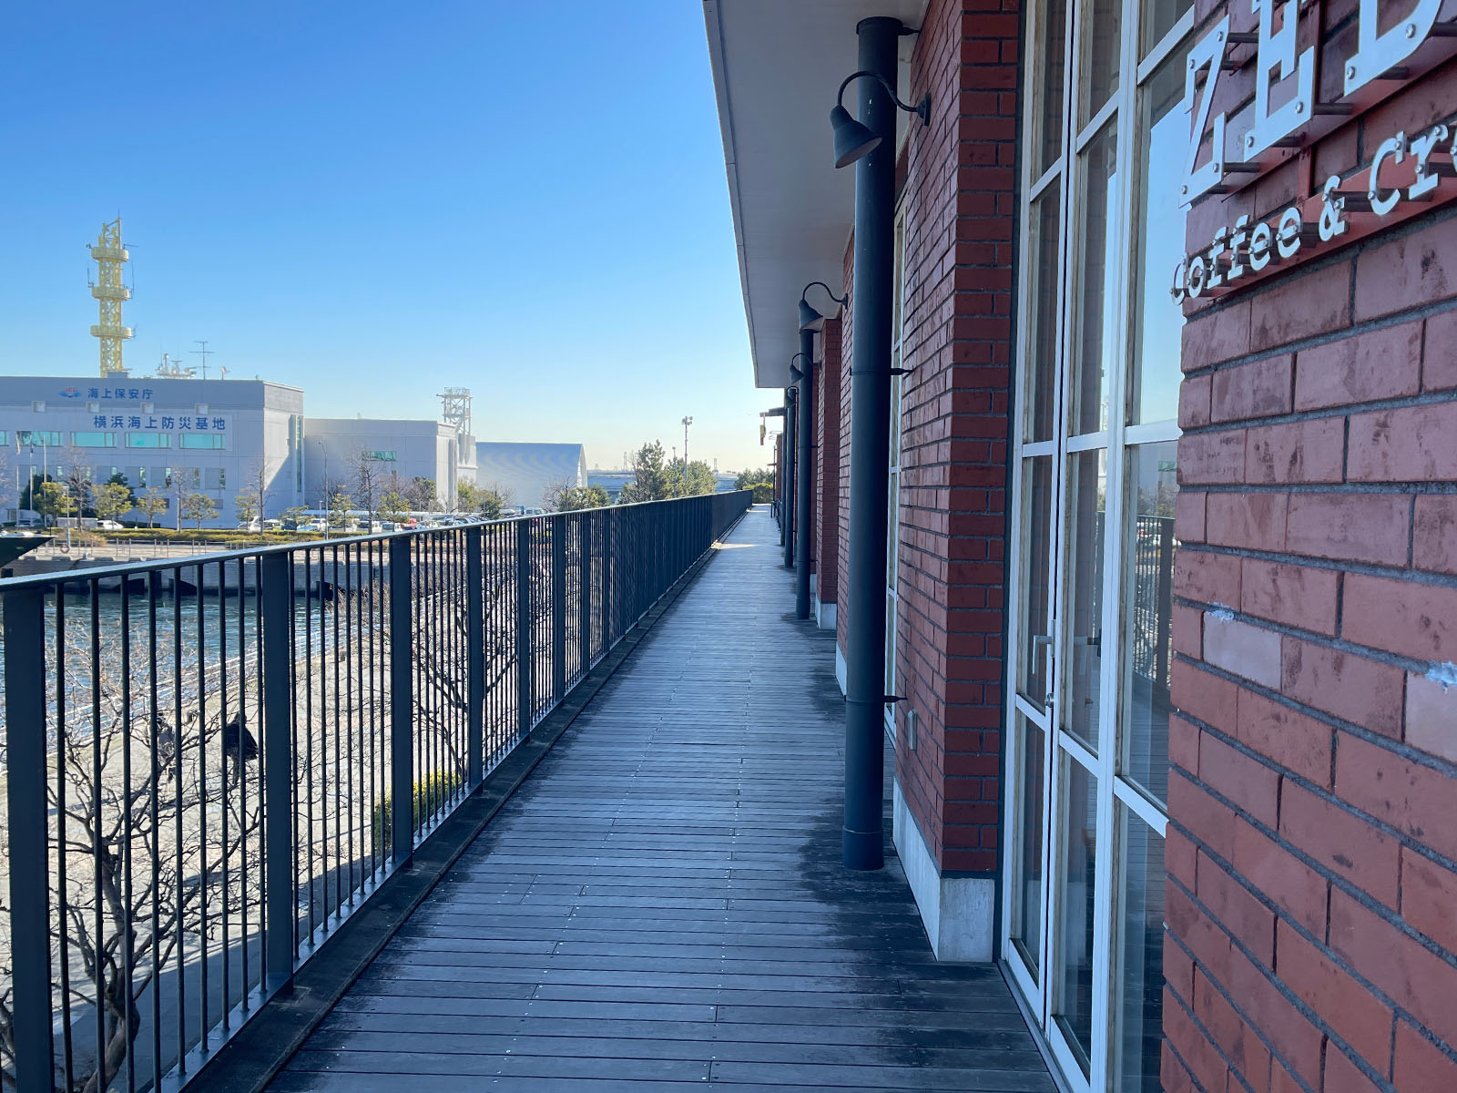
[[[452,507],[456,485],[475,482],[475,437],[444,421],[310,417],[305,421],[305,504],[326,509],[328,494],[358,494],[360,459],[374,466],[380,490],[404,488],[415,478],[436,485],[441,504]]]

